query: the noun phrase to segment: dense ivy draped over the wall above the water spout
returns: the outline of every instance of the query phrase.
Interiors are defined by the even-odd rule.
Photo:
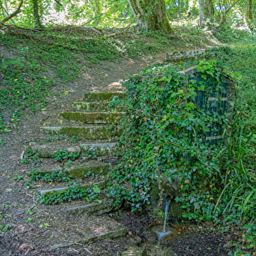
[[[197,89],[205,97],[221,90],[225,74],[216,61],[200,61],[201,82],[191,75],[186,85],[187,77],[177,72],[182,68],[155,67],[125,82],[127,118],[120,143],[129,150],[110,174],[118,184],[110,185],[109,196],[126,200],[133,211],[141,210],[150,202],[150,180],[164,175],[178,183],[176,200],[187,210],[184,217],[210,219],[222,171],[214,156],[223,145],[210,147],[204,136],[212,123],[223,124],[223,115],[212,116],[191,99]]]

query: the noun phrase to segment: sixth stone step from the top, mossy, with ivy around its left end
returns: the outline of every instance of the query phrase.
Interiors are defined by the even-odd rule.
[[[72,178],[78,178],[82,179],[85,178],[85,175],[88,174],[88,172],[91,172],[93,174],[98,175],[105,175],[108,173],[108,170],[110,168],[109,163],[103,163],[99,161],[88,161],[87,163],[83,163],[81,165],[72,165],[71,167],[67,168],[54,168],[54,169],[48,169],[48,170],[37,170],[35,172],[36,174],[40,174],[42,176],[46,174],[51,174],[52,172],[56,171],[66,171],[67,176],[71,175]]]

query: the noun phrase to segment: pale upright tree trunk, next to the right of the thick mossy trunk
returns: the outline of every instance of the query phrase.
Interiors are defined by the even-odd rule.
[[[213,0],[199,0],[199,17],[201,27],[212,27],[214,22]]]

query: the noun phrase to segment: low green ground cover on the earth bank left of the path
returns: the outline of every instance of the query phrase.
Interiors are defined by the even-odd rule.
[[[35,33],[35,32],[34,32]],[[50,88],[57,82],[69,82],[80,76],[78,58],[84,56],[92,63],[114,60],[121,56],[112,40],[67,40],[65,33],[59,37],[51,31],[35,33],[35,41],[0,33],[1,45],[16,52],[16,57],[0,61],[0,133],[8,133],[20,125],[24,110],[44,110]],[[49,44],[41,43],[44,37],[52,37]],[[22,46],[19,46],[22,45]],[[78,57],[79,56],[79,57]],[[8,116],[2,112],[8,110]]]

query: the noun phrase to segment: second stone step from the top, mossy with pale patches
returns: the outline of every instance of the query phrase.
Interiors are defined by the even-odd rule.
[[[72,104],[73,108],[78,111],[85,111],[85,112],[113,112],[115,110],[123,110],[124,107],[116,106],[114,109],[109,106],[109,103],[86,103],[86,102],[76,102]]]

